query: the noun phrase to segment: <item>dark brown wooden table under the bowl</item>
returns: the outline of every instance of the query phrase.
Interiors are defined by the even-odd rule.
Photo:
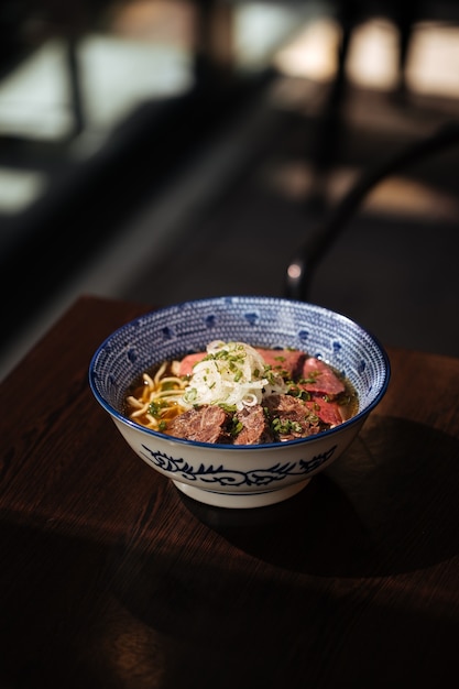
[[[218,510],[89,390],[145,310],[80,298],[1,384],[0,687],[458,686],[459,360],[390,349],[341,459],[285,503]]]

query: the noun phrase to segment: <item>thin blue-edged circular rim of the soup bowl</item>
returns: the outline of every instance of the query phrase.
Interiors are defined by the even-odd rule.
[[[186,438],[177,438],[175,436],[171,436],[171,435],[161,433],[159,430],[154,430],[152,428],[146,428],[146,426],[136,424],[135,422],[131,420],[130,418],[121,414],[121,412],[119,412],[114,406],[108,403],[105,400],[105,397],[101,395],[95,382],[95,378],[96,378],[95,368],[96,368],[96,363],[99,358],[99,354],[107,347],[107,344],[110,342],[110,340],[114,336],[122,333],[123,330],[132,329],[132,327],[134,327],[139,321],[143,320],[144,318],[149,316],[157,315],[159,317],[161,317],[162,315],[167,314],[167,311],[172,309],[176,310],[177,308],[181,308],[186,305],[192,306],[194,304],[197,304],[197,305],[205,306],[206,304],[208,304],[210,306],[217,303],[223,304],[226,300],[230,300],[231,303],[233,303],[234,300],[238,300],[238,299],[244,299],[244,300],[253,299],[260,303],[270,302],[272,304],[278,304],[278,305],[287,303],[287,304],[294,304],[296,306],[309,307],[316,313],[332,314],[334,316],[338,316],[340,319],[347,321],[352,327],[357,327],[358,329],[360,329],[363,335],[365,335],[368,338],[370,338],[370,340],[372,340],[375,349],[379,351],[381,359],[383,361],[383,370],[384,370],[383,381],[375,397],[372,400],[370,404],[368,404],[368,406],[365,406],[364,409],[359,411],[357,414],[354,414],[354,416],[347,419],[346,422],[342,422],[342,424],[339,424],[338,426],[335,426],[334,428],[323,430],[313,436],[306,436],[304,438],[295,438],[293,440],[284,440],[281,442],[263,442],[261,445],[232,445],[232,444],[221,444],[221,442],[203,442],[200,440],[188,440]],[[146,310],[144,314],[136,316],[135,318],[132,318],[131,320],[124,322],[120,327],[112,330],[112,332],[108,335],[103,339],[103,341],[100,342],[100,344],[97,347],[96,351],[94,352],[90,359],[89,369],[88,369],[89,386],[95,398],[100,404],[100,406],[113,419],[120,422],[124,426],[128,426],[129,428],[133,430],[140,430],[144,435],[150,436],[152,438],[157,438],[157,439],[166,440],[170,442],[177,442],[179,445],[189,446],[194,448],[214,449],[214,450],[219,450],[219,451],[221,450],[228,450],[228,451],[250,450],[252,452],[272,450],[273,448],[278,449],[280,447],[293,447],[293,446],[305,445],[305,444],[310,444],[315,441],[317,442],[321,438],[328,438],[335,434],[341,433],[346,428],[349,428],[351,426],[354,426],[356,424],[359,424],[360,422],[363,422],[367,418],[367,416],[370,414],[370,412],[372,412],[372,409],[374,409],[374,407],[379,405],[382,397],[385,395],[389,383],[390,383],[391,374],[392,374],[391,362],[390,362],[389,354],[384,346],[381,343],[380,339],[373,335],[371,330],[362,326],[359,321],[347,316],[346,314],[342,314],[341,311],[335,310],[332,308],[328,308],[326,306],[321,306],[319,304],[315,304],[312,302],[302,302],[298,299],[289,299],[287,297],[276,297],[276,296],[267,296],[267,295],[266,296],[263,296],[263,295],[226,295],[226,296],[204,297],[199,299],[186,299],[183,302],[178,302],[176,304],[163,306],[161,308],[156,308],[156,309],[152,308],[150,310]]]

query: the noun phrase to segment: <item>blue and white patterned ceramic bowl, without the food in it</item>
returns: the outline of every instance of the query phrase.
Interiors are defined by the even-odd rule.
[[[127,389],[143,371],[203,351],[216,339],[303,349],[324,359],[354,386],[357,415],[316,436],[258,446],[172,438],[123,416]],[[108,337],[89,367],[96,400],[132,450],[188,496],[222,507],[263,506],[299,492],[347,449],[389,379],[386,352],[357,322],[313,304],[262,296],[198,299],[147,313]]]

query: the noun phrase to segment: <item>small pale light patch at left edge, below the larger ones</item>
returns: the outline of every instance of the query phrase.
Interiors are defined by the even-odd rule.
[[[43,173],[0,167],[0,214],[14,215],[33,204],[47,186]]]

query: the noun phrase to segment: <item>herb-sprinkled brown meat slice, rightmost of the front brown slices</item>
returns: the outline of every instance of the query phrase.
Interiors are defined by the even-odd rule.
[[[263,402],[271,417],[271,428],[277,440],[293,440],[319,433],[317,422],[310,419],[310,409],[292,395],[270,395]]]

